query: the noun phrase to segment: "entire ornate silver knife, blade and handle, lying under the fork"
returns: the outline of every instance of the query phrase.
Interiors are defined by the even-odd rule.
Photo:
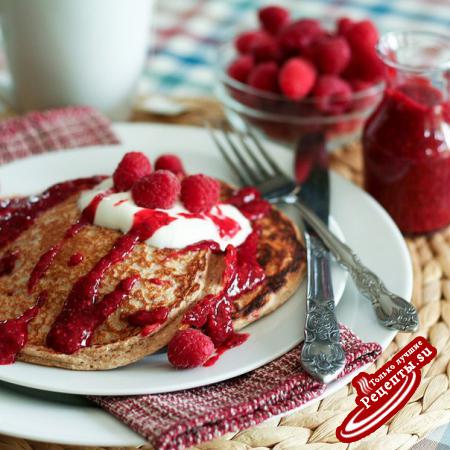
[[[302,157],[307,170],[304,172],[305,179],[301,183],[299,199],[328,225],[329,175],[325,137],[322,133],[308,134],[300,140],[297,158]],[[314,378],[329,383],[345,365],[345,353],[339,342],[339,325],[335,314],[330,255],[308,223],[305,223],[304,237],[307,252],[307,296],[301,363]]]

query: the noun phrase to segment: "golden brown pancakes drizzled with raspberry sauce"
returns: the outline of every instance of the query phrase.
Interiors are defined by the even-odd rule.
[[[224,195],[230,188],[224,188]],[[122,233],[94,225],[84,226],[64,241],[54,261],[30,294],[30,274],[41,255],[60,242],[67,229],[79,218],[79,194],[48,209],[17,239],[0,249],[0,258],[16,252],[11,274],[0,277],[0,321],[20,316],[35,305],[37,293],[47,299],[29,323],[28,341],[18,355],[21,361],[74,370],[112,369],[135,362],[167,345],[181,326],[184,313],[207,294],[222,288],[224,258],[210,250],[177,252],[140,243],[125,259],[107,270],[99,296],[111,292],[124,278],[138,275],[139,282],[119,308],[100,325],[88,347],[73,354],[57,353],[46,343],[47,335],[60,314],[74,283],[88,273],[113,247]],[[304,248],[296,226],[283,213],[272,208],[256,221],[260,230],[258,262],[265,281],[234,301],[236,329],[270,313],[282,305],[299,286],[305,270]],[[83,260],[69,266],[72,255]],[[99,300],[100,301],[100,300]],[[155,307],[169,308],[169,317],[160,328],[143,336],[140,327],[127,317]]]

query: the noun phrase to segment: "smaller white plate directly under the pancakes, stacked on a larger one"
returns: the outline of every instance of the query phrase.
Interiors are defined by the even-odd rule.
[[[151,161],[163,152],[178,153],[189,173],[205,172],[236,182],[203,131],[177,128],[174,132],[173,127],[152,127],[151,130],[152,138],[137,146]],[[114,145],[67,150],[3,166],[0,168],[0,178],[3,181],[1,194],[29,194],[70,178],[110,174],[123,154],[133,148],[135,147],[129,145]],[[278,148],[277,151],[280,152]],[[281,152],[285,153],[289,168],[290,155],[284,150]],[[39,176],[30,176],[31,173]],[[298,219],[295,211],[293,213],[293,218]],[[336,225],[332,228],[342,236]],[[336,264],[332,269],[336,299],[340,299],[347,273]],[[169,364],[166,353],[162,352],[126,367],[95,372],[17,362],[10,366],[0,366],[0,380],[35,389],[82,395],[154,394],[227,380],[274,360],[303,339],[305,284],[273,314],[247,327],[245,332],[250,337],[245,344],[226,352],[212,367],[176,370]]]

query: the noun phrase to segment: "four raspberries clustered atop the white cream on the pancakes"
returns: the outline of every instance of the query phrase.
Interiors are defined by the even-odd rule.
[[[155,171],[141,152],[129,152],[120,161],[114,174],[114,189],[129,191],[142,208],[169,209],[180,199],[192,213],[206,213],[219,201],[220,185],[206,175],[189,175],[176,155],[161,155]]]

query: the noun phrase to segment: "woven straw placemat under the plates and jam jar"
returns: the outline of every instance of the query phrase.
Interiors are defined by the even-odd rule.
[[[216,102],[184,99],[191,111],[174,119],[136,113],[133,120],[202,125],[205,118],[222,117]],[[361,147],[353,144],[333,155],[332,167],[361,185]],[[202,450],[407,450],[440,425],[450,422],[450,227],[430,236],[406,239],[414,267],[413,303],[419,311],[420,329],[414,334],[400,333],[387,347],[374,372],[415,336],[426,337],[438,350],[438,357],[422,369],[422,383],[409,403],[386,425],[368,438],[353,444],[337,441],[335,431],[354,408],[356,394],[346,386],[306,409],[269,420],[240,433],[199,445]],[[43,444],[0,435],[0,450],[84,449]],[[92,449],[101,450],[101,449]],[[116,450],[119,450],[117,448]],[[125,450],[121,448],[120,450]]]

